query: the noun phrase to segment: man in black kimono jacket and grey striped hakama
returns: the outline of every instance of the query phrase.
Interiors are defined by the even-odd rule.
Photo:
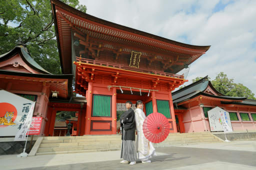
[[[120,117],[120,127],[122,134],[121,146],[121,164],[130,162],[129,165],[136,164],[136,148],[135,148],[135,116],[134,111],[131,109],[131,101],[125,103],[127,111]]]

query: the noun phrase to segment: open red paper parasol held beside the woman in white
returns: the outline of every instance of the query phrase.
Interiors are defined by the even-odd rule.
[[[164,141],[169,134],[169,122],[161,113],[151,113],[143,123],[143,133],[146,139],[152,143]]]

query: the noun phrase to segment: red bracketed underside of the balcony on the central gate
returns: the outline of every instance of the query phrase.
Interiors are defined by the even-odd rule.
[[[88,83],[94,82],[97,75],[109,80],[107,84],[104,84],[105,88],[108,86],[120,86],[121,80],[132,79],[133,81],[137,81],[137,84],[146,83],[150,90],[156,90],[157,86],[162,83],[168,89],[167,91],[171,91],[186,81],[181,76],[179,78],[174,77],[175,75],[173,77],[167,77],[81,62],[75,62],[74,64],[76,65],[75,92],[83,96],[85,96],[86,90],[88,89]],[[129,90],[128,88],[123,89]],[[141,92],[148,92],[149,89],[141,89]]]

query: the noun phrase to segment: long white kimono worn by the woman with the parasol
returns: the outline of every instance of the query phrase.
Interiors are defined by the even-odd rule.
[[[141,109],[135,110],[135,123],[136,123],[136,131],[137,131],[137,139],[136,139],[136,150],[138,154],[138,159],[141,161],[146,161],[150,159],[152,156],[155,156],[155,149],[151,142],[149,142],[143,133],[143,122],[145,120],[145,114]]]

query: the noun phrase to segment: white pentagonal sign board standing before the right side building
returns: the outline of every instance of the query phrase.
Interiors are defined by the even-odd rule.
[[[211,132],[224,131],[224,129],[225,132],[232,132],[230,117],[227,111],[215,107],[208,111],[208,119]]]

